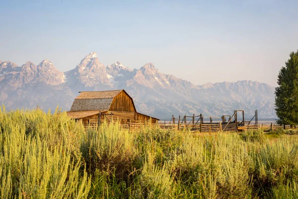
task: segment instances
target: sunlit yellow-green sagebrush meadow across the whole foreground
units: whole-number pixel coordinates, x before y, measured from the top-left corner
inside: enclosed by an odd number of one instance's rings
[[[0,198],[297,199],[295,130],[140,132],[0,110]]]

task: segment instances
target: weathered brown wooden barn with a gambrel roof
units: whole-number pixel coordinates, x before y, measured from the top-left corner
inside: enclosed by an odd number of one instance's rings
[[[137,112],[134,100],[124,90],[79,92],[68,116],[84,126],[118,121],[121,125],[157,122],[159,119]]]

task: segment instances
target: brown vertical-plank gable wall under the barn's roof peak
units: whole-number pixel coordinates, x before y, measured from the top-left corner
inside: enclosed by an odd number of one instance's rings
[[[126,112],[136,111],[133,100],[124,91],[121,91],[116,97],[114,97],[109,110]]]

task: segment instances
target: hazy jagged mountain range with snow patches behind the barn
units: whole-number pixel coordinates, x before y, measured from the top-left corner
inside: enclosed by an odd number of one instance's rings
[[[183,72],[183,69],[181,69]],[[216,79],[216,74],[215,74]],[[22,66],[0,61],[0,103],[6,109],[61,107],[69,110],[79,91],[125,89],[138,111],[162,119],[174,114],[231,115],[244,109],[246,116],[275,118],[275,88],[259,82],[238,81],[194,85],[173,75],[160,73],[152,63],[130,69],[119,61],[104,66],[95,52],[85,56],[67,72],[57,70],[49,60]]]

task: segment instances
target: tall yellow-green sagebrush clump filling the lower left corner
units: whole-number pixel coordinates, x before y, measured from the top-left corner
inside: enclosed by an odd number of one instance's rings
[[[72,158],[72,137],[50,128],[53,117],[69,120],[65,113],[0,111],[1,198],[87,198],[90,178]]]

